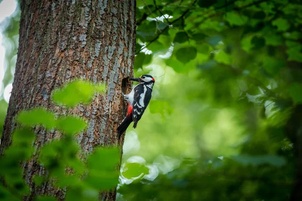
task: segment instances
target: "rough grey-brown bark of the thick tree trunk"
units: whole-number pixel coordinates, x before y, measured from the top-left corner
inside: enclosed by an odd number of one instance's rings
[[[0,155],[11,144],[16,115],[21,110],[43,106],[57,115],[85,118],[88,129],[77,137],[83,153],[95,146],[117,145],[116,128],[125,112],[121,92],[131,84],[123,81],[133,74],[135,49],[135,0],[23,0],[21,1],[19,50],[8,114],[1,139]],[[52,103],[52,91],[72,79],[106,82],[105,94],[96,95],[88,105],[74,109]],[[123,112],[124,111],[124,112]],[[36,129],[37,150],[59,138],[57,131]],[[37,194],[55,195],[64,190],[50,184],[34,186],[33,175],[45,174],[35,157],[24,164],[24,177]],[[103,192],[104,200],[115,200],[116,192]]]

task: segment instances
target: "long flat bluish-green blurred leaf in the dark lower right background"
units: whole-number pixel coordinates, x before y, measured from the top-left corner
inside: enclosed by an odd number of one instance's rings
[[[232,157],[235,161],[242,163],[244,165],[261,165],[261,164],[270,164],[273,166],[283,166],[286,164],[286,161],[281,156],[275,155],[263,155],[263,156],[250,156],[250,155],[238,155]]]

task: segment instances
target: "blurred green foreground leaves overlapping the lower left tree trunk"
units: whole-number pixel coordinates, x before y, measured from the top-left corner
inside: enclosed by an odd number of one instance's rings
[[[76,84],[75,84],[76,83]],[[89,92],[83,92],[87,91]],[[87,102],[91,94],[103,92],[104,84],[91,84],[83,81],[73,81],[63,89],[54,92],[56,102],[73,106]],[[64,91],[62,93],[61,91]],[[60,95],[57,95],[61,93]],[[81,94],[74,98],[70,94]],[[67,96],[67,97],[66,97]],[[29,193],[29,187],[23,179],[22,165],[27,160],[37,158],[47,172],[46,175],[35,175],[36,186],[51,181],[56,187],[65,188],[66,200],[98,200],[99,190],[112,189],[118,184],[119,162],[118,148],[98,148],[87,156],[87,162],[79,158],[80,147],[73,134],[86,128],[86,122],[78,117],[56,117],[52,112],[43,108],[23,111],[17,118],[22,125],[13,133],[13,144],[0,158],[0,176],[5,185],[0,186],[0,200],[21,200]],[[62,138],[46,143],[37,149],[34,145],[35,133],[32,128],[58,129]],[[40,196],[37,200],[55,200],[53,197]]]

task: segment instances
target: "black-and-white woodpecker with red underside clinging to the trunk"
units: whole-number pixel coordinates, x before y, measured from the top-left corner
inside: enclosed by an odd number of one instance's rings
[[[129,94],[123,94],[124,100],[128,102],[128,112],[122,123],[117,128],[118,138],[126,131],[128,126],[133,122],[133,128],[136,128],[143,112],[147,108],[155,79],[151,75],[141,75],[140,77],[130,78],[139,84],[133,87]]]

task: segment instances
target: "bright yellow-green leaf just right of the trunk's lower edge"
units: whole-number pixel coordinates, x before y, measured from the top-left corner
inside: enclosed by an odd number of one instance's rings
[[[148,174],[148,173],[149,173],[149,168],[139,163],[126,163],[122,172],[123,176],[128,179],[135,178],[141,174]]]

